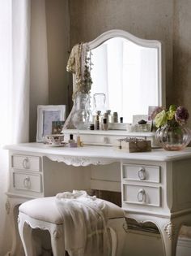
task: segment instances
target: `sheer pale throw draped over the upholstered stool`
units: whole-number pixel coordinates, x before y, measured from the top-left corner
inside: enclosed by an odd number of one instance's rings
[[[86,191],[58,193],[56,205],[64,220],[65,246],[70,256],[108,256],[105,223],[107,205]]]

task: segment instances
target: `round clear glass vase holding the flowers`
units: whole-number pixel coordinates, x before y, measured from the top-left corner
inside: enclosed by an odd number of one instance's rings
[[[167,124],[157,129],[156,139],[164,150],[183,150],[191,141],[191,131],[180,124]]]

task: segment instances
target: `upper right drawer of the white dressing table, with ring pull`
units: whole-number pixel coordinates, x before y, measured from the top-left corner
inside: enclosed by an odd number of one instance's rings
[[[160,167],[136,164],[125,164],[122,168],[123,180],[160,182]]]

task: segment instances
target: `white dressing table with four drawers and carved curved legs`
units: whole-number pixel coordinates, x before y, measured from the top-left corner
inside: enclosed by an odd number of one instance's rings
[[[20,255],[16,206],[34,197],[71,189],[121,191],[126,217],[153,222],[166,256],[176,255],[181,224],[191,225],[191,149],[131,153],[108,146],[8,145],[10,178],[6,211],[13,224],[12,249]]]

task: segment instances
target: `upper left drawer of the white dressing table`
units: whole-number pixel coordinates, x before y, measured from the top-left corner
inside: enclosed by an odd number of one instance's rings
[[[13,154],[11,167],[17,170],[40,171],[40,157]]]

